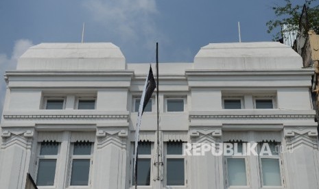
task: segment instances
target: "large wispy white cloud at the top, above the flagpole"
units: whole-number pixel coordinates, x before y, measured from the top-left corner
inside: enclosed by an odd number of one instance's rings
[[[145,47],[151,43],[154,49],[154,40],[163,38],[152,19],[158,15],[155,0],[87,0],[82,5],[123,42],[143,40]]]

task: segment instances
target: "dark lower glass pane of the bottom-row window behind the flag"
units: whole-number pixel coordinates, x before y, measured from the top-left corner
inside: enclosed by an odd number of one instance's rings
[[[138,186],[150,186],[151,180],[151,159],[138,159],[137,160],[137,185]],[[135,179],[133,176],[133,185],[135,185]]]

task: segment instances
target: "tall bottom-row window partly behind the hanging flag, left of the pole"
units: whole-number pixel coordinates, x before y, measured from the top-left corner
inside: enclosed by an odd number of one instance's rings
[[[139,142],[137,147],[137,185],[150,186],[151,181],[151,142]],[[134,152],[133,152],[134,154]],[[134,159],[133,159],[134,162]],[[132,169],[134,173],[134,169]],[[132,175],[132,185],[135,185],[134,174]]]

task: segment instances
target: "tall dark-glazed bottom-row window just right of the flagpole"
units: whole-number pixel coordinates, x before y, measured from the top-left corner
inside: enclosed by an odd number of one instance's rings
[[[166,185],[185,185],[185,159],[182,156],[182,142],[166,143]]]

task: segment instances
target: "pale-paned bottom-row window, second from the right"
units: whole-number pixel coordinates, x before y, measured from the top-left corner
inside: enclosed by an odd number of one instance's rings
[[[243,155],[233,155],[226,157],[226,183],[228,186],[247,186],[247,166],[246,166],[246,154],[243,151],[243,142],[231,142],[234,146],[237,145],[236,153],[242,153]]]

